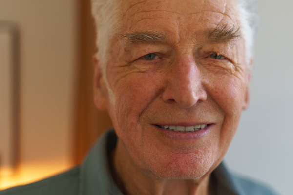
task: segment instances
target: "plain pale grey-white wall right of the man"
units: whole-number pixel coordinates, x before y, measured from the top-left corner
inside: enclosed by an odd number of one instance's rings
[[[226,155],[230,168],[264,181],[281,195],[293,182],[293,1],[257,0],[250,108]]]

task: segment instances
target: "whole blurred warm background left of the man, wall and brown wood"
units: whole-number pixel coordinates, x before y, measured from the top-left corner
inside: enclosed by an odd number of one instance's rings
[[[18,32],[12,45],[17,59],[9,64],[15,68],[10,84],[17,86],[16,100],[8,102],[13,111],[3,103],[13,90],[0,89],[0,189],[75,166],[111,126],[92,100],[95,33],[89,10],[89,0],[0,0],[0,24],[10,22],[13,29],[6,31]],[[3,45],[0,51],[3,58]],[[0,78],[9,78],[3,62]]]

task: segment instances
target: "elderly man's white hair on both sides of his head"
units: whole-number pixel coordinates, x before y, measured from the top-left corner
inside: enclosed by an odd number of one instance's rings
[[[119,0],[91,0],[92,15],[96,24],[96,46],[98,49],[102,70],[105,72],[105,66],[108,60],[109,44],[113,36],[118,32],[121,25],[120,3]],[[258,27],[258,15],[256,12],[255,0],[236,0],[238,2],[242,34],[246,42],[246,63],[253,53],[253,43]]]

